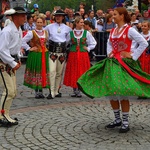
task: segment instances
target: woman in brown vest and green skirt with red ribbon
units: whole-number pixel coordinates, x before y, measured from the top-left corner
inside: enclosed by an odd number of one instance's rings
[[[24,85],[35,90],[37,99],[44,98],[43,88],[50,88],[49,52],[46,48],[48,34],[43,30],[43,24],[44,18],[37,17],[36,29],[28,31],[22,43],[22,48],[30,51],[26,62]]]

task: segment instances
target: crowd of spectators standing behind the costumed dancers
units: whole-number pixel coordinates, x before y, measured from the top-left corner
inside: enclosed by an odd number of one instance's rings
[[[110,32],[112,28],[116,25],[113,21],[113,9],[108,9],[107,11],[103,11],[102,9],[98,9],[97,11],[88,10],[86,11],[85,3],[81,2],[79,8],[75,11],[73,8],[65,7],[64,9],[61,6],[55,6],[53,10],[47,10],[45,13],[39,12],[39,6],[37,4],[33,5],[33,9],[27,15],[27,20],[23,29],[23,35],[25,35],[29,30],[35,29],[35,21],[38,16],[42,16],[45,19],[43,28],[48,24],[55,22],[55,12],[56,10],[63,10],[66,13],[65,16],[65,24],[74,28],[74,20],[75,17],[81,16],[85,21],[85,28],[89,30],[93,35],[95,32]],[[143,21],[150,22],[150,11],[144,10],[140,13],[140,11],[136,8],[134,12],[129,12],[131,16],[130,25],[135,28],[137,31],[142,32],[141,26]],[[11,19],[9,16],[4,17],[2,21],[1,29],[4,28],[8,23],[10,23]]]

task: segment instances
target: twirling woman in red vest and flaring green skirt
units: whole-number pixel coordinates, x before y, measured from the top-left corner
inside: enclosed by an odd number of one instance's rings
[[[150,97],[150,75],[141,70],[137,61],[148,43],[128,25],[130,16],[125,8],[115,8],[113,19],[117,26],[110,32],[108,57],[84,73],[78,80],[78,86],[89,97],[106,96],[115,115],[115,120],[106,128],[121,126],[119,132],[126,133],[130,130],[130,96]],[[138,44],[137,47],[133,46],[133,41]]]

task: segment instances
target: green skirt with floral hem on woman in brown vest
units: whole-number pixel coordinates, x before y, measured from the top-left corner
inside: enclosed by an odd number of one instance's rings
[[[49,52],[45,52],[46,86],[42,86],[42,53],[30,52],[26,62],[24,85],[32,89],[50,88]]]

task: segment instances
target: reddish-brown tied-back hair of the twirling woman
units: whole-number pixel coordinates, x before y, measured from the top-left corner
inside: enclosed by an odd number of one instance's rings
[[[130,23],[131,17],[129,15],[129,13],[127,12],[126,8],[124,8],[124,7],[117,7],[114,10],[116,10],[119,13],[119,15],[124,15],[124,21],[126,23]]]

